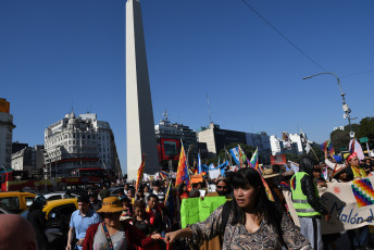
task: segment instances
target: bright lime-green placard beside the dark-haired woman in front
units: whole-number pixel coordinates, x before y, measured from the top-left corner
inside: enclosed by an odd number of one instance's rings
[[[180,224],[185,228],[188,224],[203,222],[214,210],[226,202],[223,197],[205,197],[183,199],[180,204]]]

